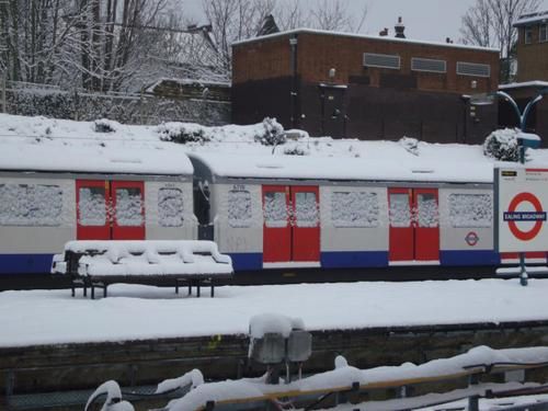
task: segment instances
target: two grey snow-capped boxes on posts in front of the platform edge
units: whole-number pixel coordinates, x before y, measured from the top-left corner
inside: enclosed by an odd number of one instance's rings
[[[263,313],[249,323],[248,358],[267,366],[266,383],[279,384],[279,370],[285,364],[285,383],[290,383],[290,364],[297,364],[301,377],[302,363],[312,353],[312,335],[305,331],[299,318]]]

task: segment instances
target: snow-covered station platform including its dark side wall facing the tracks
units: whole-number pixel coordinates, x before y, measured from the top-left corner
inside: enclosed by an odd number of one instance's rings
[[[248,355],[250,319],[265,312],[299,317],[312,333],[305,373],[332,369],[338,354],[368,368],[478,345],[544,345],[548,330],[545,279],[222,286],[215,298],[140,285],[110,290],[96,300],[67,290],[0,293],[0,369],[13,374],[15,390],[139,384],[192,368],[233,379]]]

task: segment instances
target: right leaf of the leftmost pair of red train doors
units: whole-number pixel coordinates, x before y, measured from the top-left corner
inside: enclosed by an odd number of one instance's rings
[[[144,193],[142,181],[111,183],[113,240],[145,240]]]

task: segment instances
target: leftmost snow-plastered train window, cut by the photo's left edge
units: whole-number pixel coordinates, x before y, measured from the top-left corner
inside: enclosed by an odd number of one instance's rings
[[[0,224],[59,226],[62,191],[57,185],[0,184]]]

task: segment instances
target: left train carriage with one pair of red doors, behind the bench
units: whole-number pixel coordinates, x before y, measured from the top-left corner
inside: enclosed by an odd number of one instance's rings
[[[48,273],[70,240],[195,239],[180,147],[2,141],[0,274]]]

